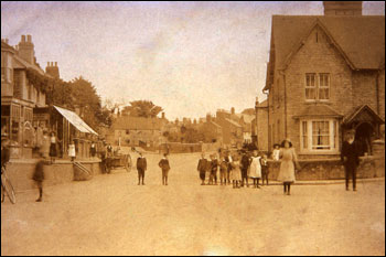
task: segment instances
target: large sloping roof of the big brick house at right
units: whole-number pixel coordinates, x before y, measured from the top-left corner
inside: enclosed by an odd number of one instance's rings
[[[276,65],[286,60],[315,24],[336,42],[356,69],[377,69],[385,60],[385,17],[274,15]],[[271,61],[271,60],[270,60]]]

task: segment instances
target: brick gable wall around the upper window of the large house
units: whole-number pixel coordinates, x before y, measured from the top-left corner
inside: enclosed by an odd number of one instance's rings
[[[318,40],[317,40],[318,34]],[[353,106],[352,72],[341,53],[329,43],[325,33],[317,26],[296,53],[283,73],[287,92],[287,137],[300,149],[300,124],[294,119],[308,105],[305,101],[305,74],[330,74],[330,100],[326,103],[341,115]],[[283,107],[280,107],[283,108]]]

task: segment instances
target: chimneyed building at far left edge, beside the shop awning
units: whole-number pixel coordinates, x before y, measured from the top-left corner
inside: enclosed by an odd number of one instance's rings
[[[34,144],[33,110],[44,107],[45,94],[28,79],[28,69],[46,76],[36,63],[31,35],[13,47],[1,40],[1,132],[12,140],[12,158],[30,158]]]

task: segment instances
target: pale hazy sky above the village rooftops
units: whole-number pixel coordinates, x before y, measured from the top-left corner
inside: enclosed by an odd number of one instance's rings
[[[363,13],[384,15],[384,2]],[[236,111],[266,98],[272,14],[322,15],[322,2],[7,2],[1,39],[31,34],[37,63],[83,76],[105,99],[147,99],[169,119]]]

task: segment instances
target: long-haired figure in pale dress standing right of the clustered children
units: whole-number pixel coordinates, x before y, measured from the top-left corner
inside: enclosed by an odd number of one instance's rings
[[[280,157],[281,163],[278,181],[283,183],[285,194],[290,195],[291,184],[294,182],[294,165],[298,165],[298,158],[289,139],[281,142]]]

